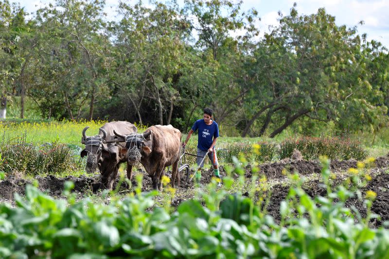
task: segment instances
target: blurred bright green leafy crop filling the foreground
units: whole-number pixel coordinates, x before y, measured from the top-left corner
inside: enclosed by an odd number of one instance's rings
[[[238,173],[245,161],[235,160]],[[16,207],[0,204],[0,256],[387,258],[389,231],[368,226],[374,193],[364,198],[366,219],[354,217],[345,202],[358,192],[358,175],[352,188],[332,188],[329,161],[322,163],[327,194],[310,197],[302,179],[289,175],[294,184],[281,203],[280,224],[251,198],[215,190],[214,181],[208,192],[198,190],[200,199],[182,202],[172,214],[170,204],[153,207],[157,193],[141,193],[141,186],[135,196],[112,196],[108,205],[76,202],[72,183],[65,184],[67,200],[27,186],[25,199],[16,194]]]

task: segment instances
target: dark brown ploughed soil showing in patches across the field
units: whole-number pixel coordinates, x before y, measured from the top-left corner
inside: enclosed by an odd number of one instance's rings
[[[377,193],[376,200],[372,205],[372,212],[381,216],[381,221],[374,220],[371,222],[373,226],[380,226],[383,221],[389,220],[389,154],[386,156],[378,157],[375,160],[375,165],[369,169],[371,175],[371,181],[368,182],[366,186],[362,188],[362,191],[373,190]],[[287,168],[290,172],[298,172],[300,175],[307,176],[310,179],[304,183],[304,190],[310,195],[325,195],[326,190],[320,185],[318,177],[314,177],[315,174],[321,172],[321,167],[319,161],[305,161],[305,160],[292,160],[284,159],[276,163],[262,164],[260,166],[260,173],[265,174],[267,181],[274,182],[273,185],[270,185],[272,195],[270,197],[270,203],[267,207],[267,211],[272,215],[276,221],[280,219],[279,207],[281,201],[286,197],[289,187],[285,184],[286,176],[282,173],[283,169]],[[346,176],[345,172],[349,168],[356,168],[355,160],[346,160],[346,161],[337,161],[334,160],[331,162],[331,172],[336,174],[335,182],[341,182]],[[142,180],[142,191],[148,191],[152,189],[152,180],[151,178],[140,170],[138,173],[143,173]],[[221,174],[225,175],[223,167],[221,167]],[[213,175],[213,170],[202,173],[202,183],[207,184],[211,181]],[[251,169],[248,166],[245,173],[246,179],[249,181],[252,177]],[[50,195],[55,197],[62,196],[62,190],[65,181],[74,182],[74,192],[79,198],[85,196],[85,194],[97,193],[98,190],[101,190],[99,184],[99,175],[93,177],[81,176],[81,177],[65,177],[57,178],[53,175],[46,177],[36,177],[39,183],[39,189],[47,191]],[[119,178],[114,184],[114,188],[117,185]],[[24,194],[26,184],[29,184],[29,181],[25,179],[16,179],[16,178],[6,178],[0,181],[0,202],[9,202],[13,203],[14,193],[17,192],[21,195]],[[132,185],[136,186],[137,182],[135,177],[132,179]],[[120,187],[124,193],[129,190],[129,186],[126,182]],[[193,197],[194,186],[193,183],[186,183],[181,179],[181,185],[176,190],[176,196],[172,201],[172,205],[177,207],[179,203],[183,200]],[[347,201],[347,206],[354,206],[358,208],[361,215],[366,215],[366,207],[363,204],[363,201],[358,200],[357,198],[352,198]]]

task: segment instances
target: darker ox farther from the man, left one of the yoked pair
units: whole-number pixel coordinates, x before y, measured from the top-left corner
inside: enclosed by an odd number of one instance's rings
[[[85,138],[85,149],[81,151],[81,157],[88,155],[85,170],[94,173],[99,168],[101,183],[109,190],[112,190],[113,182],[118,174],[119,165],[127,161],[127,157],[121,150],[124,142],[106,143],[106,136],[114,136],[114,131],[120,134],[136,133],[138,131],[134,124],[127,121],[112,121],[104,124],[99,130],[99,135],[86,136],[85,127],[82,136]],[[131,180],[132,165],[127,163],[127,177]]]

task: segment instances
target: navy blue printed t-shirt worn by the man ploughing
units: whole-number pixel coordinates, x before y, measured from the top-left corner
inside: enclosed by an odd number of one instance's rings
[[[200,119],[192,126],[193,131],[196,131],[197,129],[197,147],[201,150],[208,150],[212,145],[213,137],[219,137],[219,126],[217,126],[216,121],[212,121],[211,125],[207,125],[205,124],[204,119]]]

